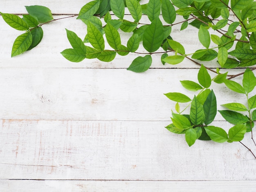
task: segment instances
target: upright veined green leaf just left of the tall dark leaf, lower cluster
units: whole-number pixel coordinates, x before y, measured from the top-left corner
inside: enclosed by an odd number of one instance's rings
[[[205,120],[203,106],[196,96],[194,96],[191,102],[190,119],[194,125],[200,125]]]

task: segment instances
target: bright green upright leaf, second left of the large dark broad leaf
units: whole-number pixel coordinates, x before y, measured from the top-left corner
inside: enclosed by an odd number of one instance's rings
[[[121,38],[117,29],[115,29],[115,27],[113,27],[112,25],[107,24],[106,27],[104,27],[104,31],[110,47],[112,47],[115,50],[118,50],[121,46]]]

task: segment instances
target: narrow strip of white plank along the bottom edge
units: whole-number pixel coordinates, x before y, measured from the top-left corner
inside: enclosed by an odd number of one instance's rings
[[[255,181],[16,181],[0,180],[2,192],[254,192]]]

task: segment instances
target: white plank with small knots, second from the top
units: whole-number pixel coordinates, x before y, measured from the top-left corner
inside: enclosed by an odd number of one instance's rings
[[[180,80],[197,81],[197,73],[198,69],[149,69],[141,74],[125,69],[0,69],[0,118],[169,121],[175,102],[164,93],[193,98],[195,93],[186,91]],[[246,105],[243,94],[225,85],[213,83],[212,89],[218,109],[225,103]],[[184,109],[187,104],[180,105]],[[223,120],[219,113],[216,120]]]

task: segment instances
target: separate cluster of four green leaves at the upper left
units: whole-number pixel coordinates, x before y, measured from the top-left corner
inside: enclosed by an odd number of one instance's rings
[[[43,38],[43,29],[40,23],[53,20],[52,12],[47,7],[38,5],[25,7],[29,14],[22,15],[22,18],[14,14],[0,12],[8,25],[19,31],[25,31],[14,41],[11,51],[12,57],[36,47]]]

